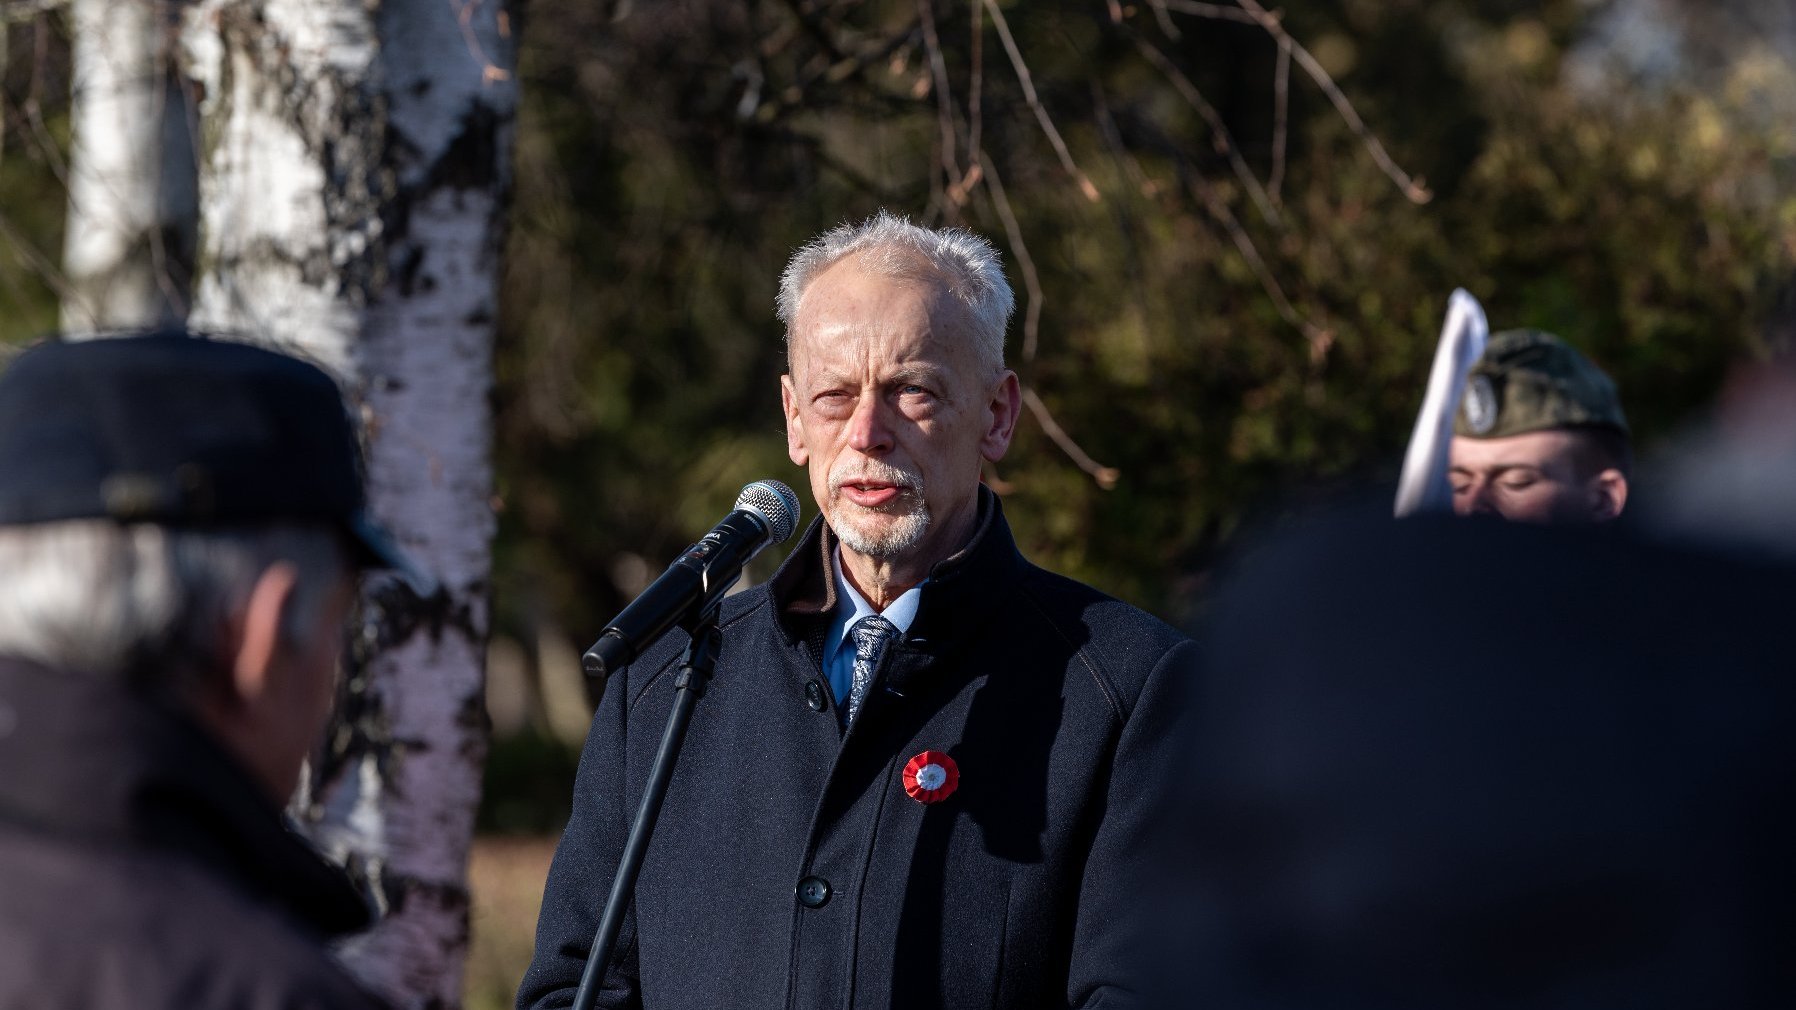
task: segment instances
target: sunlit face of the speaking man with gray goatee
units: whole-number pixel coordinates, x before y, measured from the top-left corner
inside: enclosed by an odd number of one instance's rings
[[[787,449],[842,548],[929,566],[972,536],[982,460],[1017,421],[1017,376],[981,361],[939,284],[862,271],[812,280],[779,381]]]

